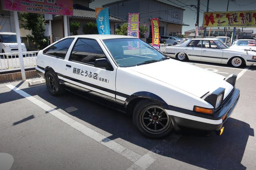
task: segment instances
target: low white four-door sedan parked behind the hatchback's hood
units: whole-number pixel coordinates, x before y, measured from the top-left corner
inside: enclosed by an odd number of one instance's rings
[[[181,45],[168,46],[164,54],[180,61],[231,64],[234,67],[256,64],[256,52],[229,48],[216,38],[191,39]]]

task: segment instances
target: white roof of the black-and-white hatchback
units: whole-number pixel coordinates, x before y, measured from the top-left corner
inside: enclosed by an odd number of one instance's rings
[[[90,34],[90,35],[73,35],[68,37],[94,38],[94,39],[119,39],[119,38],[137,38],[127,35],[106,35],[106,34]],[[64,37],[64,38],[68,38]]]

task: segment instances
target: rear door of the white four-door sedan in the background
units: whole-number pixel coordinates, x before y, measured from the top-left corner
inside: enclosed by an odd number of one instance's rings
[[[200,61],[202,53],[202,41],[192,40],[184,48],[184,52],[188,55],[189,60]]]

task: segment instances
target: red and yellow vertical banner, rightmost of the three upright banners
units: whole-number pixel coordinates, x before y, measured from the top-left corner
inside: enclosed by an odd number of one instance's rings
[[[158,18],[151,19],[151,27],[152,27],[152,46],[155,49],[160,49]]]

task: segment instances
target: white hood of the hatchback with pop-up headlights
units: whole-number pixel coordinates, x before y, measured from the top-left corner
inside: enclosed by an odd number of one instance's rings
[[[226,98],[233,89],[231,84],[223,80],[224,76],[174,59],[128,67],[128,69],[175,86],[199,98],[219,87],[226,89],[224,94]]]

